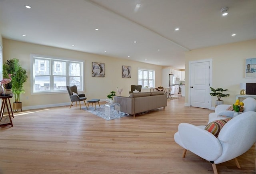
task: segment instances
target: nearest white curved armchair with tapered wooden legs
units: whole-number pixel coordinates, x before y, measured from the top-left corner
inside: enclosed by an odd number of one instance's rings
[[[220,130],[218,138],[204,128],[180,123],[174,140],[184,148],[183,157],[190,150],[211,162],[214,174],[218,173],[215,164],[232,159],[240,168],[236,157],[249,150],[256,141],[256,112],[248,111],[228,121]]]

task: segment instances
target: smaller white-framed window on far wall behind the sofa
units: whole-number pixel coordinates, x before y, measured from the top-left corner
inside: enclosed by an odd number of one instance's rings
[[[142,88],[154,87],[155,71],[147,69],[138,69],[138,85]]]

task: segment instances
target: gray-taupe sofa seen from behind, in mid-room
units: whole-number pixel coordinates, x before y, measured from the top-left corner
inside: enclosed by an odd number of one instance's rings
[[[115,103],[120,104],[121,112],[135,115],[145,111],[167,106],[167,96],[163,91],[130,93],[130,97],[115,96]]]

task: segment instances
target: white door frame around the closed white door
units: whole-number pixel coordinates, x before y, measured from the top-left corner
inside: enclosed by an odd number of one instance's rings
[[[209,83],[210,83],[210,87],[212,87],[212,59],[202,59],[202,60],[196,60],[196,61],[189,61],[188,62],[188,106],[190,106],[191,103],[191,65],[192,63],[202,63],[202,62],[209,62],[210,63],[210,71],[209,71]],[[208,109],[213,109],[212,108],[212,96],[209,93],[209,103],[208,103]]]

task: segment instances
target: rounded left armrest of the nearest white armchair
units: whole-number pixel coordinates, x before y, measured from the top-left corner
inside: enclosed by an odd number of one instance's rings
[[[184,146],[198,156],[214,161],[222,154],[219,140],[202,127],[180,123],[178,133]]]

